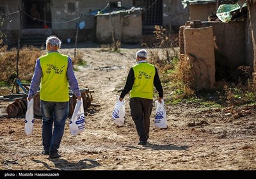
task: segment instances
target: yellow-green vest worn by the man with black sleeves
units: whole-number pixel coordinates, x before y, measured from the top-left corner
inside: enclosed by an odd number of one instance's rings
[[[153,99],[154,77],[156,69],[150,63],[138,63],[132,66],[134,71],[134,84],[130,97]]]

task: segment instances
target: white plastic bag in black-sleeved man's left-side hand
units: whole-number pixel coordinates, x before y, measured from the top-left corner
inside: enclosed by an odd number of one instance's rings
[[[112,118],[118,126],[124,125],[125,121],[125,100],[122,102],[119,100],[119,96],[117,95],[117,100],[115,104],[115,108],[112,113]]]

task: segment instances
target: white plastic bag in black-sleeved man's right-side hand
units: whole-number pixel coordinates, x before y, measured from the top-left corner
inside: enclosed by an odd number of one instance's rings
[[[156,116],[154,120],[154,128],[167,128],[166,110],[164,108],[164,100],[155,101]]]

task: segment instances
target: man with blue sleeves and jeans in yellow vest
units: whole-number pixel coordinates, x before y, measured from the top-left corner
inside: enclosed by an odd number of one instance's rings
[[[40,105],[43,119],[42,154],[59,158],[58,153],[69,111],[68,84],[78,100],[79,85],[74,74],[72,59],[60,54],[61,41],[56,36],[46,39],[45,56],[36,60],[35,72],[30,84],[28,100],[35,97],[40,86]],[[54,126],[54,128],[53,128]],[[53,130],[52,130],[53,128]]]

